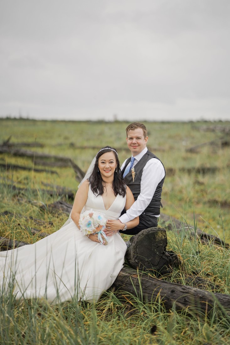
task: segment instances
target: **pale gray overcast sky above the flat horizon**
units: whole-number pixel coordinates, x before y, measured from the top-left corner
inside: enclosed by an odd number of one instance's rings
[[[0,0],[0,116],[230,120],[229,0]]]

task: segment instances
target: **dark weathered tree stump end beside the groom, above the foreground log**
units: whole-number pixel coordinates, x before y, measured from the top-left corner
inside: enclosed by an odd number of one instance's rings
[[[178,256],[172,251],[166,251],[167,236],[164,228],[142,230],[130,238],[130,243],[125,257],[133,268],[166,274],[172,272],[173,267],[179,266]]]

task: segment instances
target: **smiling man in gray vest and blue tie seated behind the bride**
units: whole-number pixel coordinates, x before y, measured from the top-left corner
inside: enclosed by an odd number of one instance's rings
[[[120,232],[136,235],[143,229],[157,226],[160,206],[162,207],[161,192],[165,169],[160,159],[146,147],[148,137],[145,125],[133,122],[126,128],[126,135],[132,157],[124,161],[121,171],[126,185],[133,193],[135,202],[125,214],[119,217],[119,220],[125,224],[139,216],[140,221],[135,228],[120,230]],[[132,172],[131,169],[134,171]]]

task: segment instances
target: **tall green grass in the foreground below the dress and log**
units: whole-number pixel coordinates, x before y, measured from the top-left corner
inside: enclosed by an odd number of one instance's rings
[[[1,298],[1,344],[229,344],[230,316],[214,305],[194,315],[106,292],[96,304]]]

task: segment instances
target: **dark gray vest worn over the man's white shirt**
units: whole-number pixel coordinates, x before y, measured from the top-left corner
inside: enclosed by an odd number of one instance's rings
[[[125,176],[124,181],[125,184],[130,187],[134,199],[136,201],[137,197],[141,193],[141,177],[143,173],[143,168],[145,167],[146,163],[151,159],[151,158],[157,158],[152,152],[148,151],[144,154],[144,156],[137,162],[137,164],[134,167],[135,170],[135,178],[133,181],[132,177],[132,172],[128,172],[128,174]],[[122,169],[122,175],[124,174],[125,168],[131,161],[131,157],[126,160],[125,166]],[[162,164],[163,165],[163,164]],[[164,166],[163,166],[164,167]],[[164,169],[165,172],[165,169]],[[153,176],[154,179],[154,176]],[[162,207],[161,204],[161,192],[162,192],[162,186],[164,183],[165,175],[162,178],[162,180],[159,182],[159,184],[156,187],[155,193],[153,195],[152,200],[150,201],[149,205],[146,207],[144,210],[143,214],[146,214],[147,216],[155,216],[160,214],[160,206]]]

